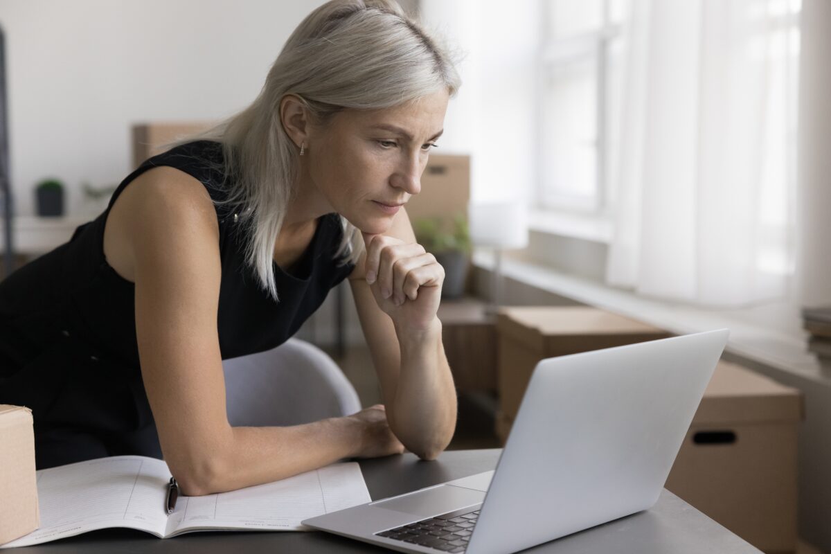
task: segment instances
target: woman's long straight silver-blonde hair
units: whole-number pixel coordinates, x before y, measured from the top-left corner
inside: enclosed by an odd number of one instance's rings
[[[278,300],[273,250],[300,163],[280,118],[283,98],[297,96],[324,123],[339,110],[389,108],[442,89],[454,96],[459,86],[448,52],[396,2],[332,0],[297,26],[248,108],[189,139],[222,144],[224,203],[243,216],[246,262],[270,296]],[[360,233],[341,223],[337,257],[356,262]]]

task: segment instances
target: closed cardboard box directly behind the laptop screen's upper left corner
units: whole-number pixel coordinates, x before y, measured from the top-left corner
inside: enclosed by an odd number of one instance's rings
[[[499,310],[496,326],[499,411],[508,427],[539,360],[671,336],[641,321],[588,306],[506,307]]]

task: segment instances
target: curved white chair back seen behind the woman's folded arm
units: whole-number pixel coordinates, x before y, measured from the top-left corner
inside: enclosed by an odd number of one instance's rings
[[[298,425],[361,410],[355,388],[326,352],[292,338],[223,361],[232,425]]]

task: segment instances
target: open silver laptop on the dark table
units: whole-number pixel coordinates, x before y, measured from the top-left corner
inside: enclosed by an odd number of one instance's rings
[[[303,523],[400,552],[517,552],[652,507],[729,331],[542,360],[494,471]]]

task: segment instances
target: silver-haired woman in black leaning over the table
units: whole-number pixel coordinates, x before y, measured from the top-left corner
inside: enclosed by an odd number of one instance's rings
[[[339,458],[435,458],[456,409],[444,272],[403,204],[458,86],[395,2],[328,2],[252,105],[146,161],[70,243],[2,282],[0,403],[32,408],[38,468],[164,454],[199,495]],[[347,277],[386,410],[230,427],[222,360],[286,341]]]

